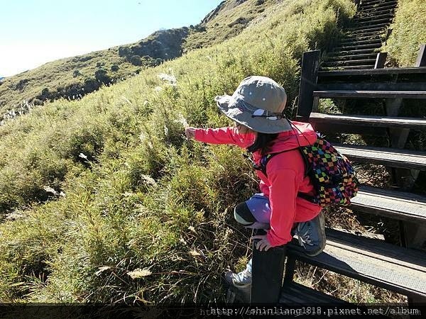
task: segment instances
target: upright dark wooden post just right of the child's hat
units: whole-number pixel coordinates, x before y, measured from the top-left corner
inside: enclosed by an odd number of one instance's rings
[[[302,57],[302,72],[300,74],[299,99],[297,106],[297,115],[309,118],[312,110],[313,96],[317,85],[317,72],[320,64],[320,50],[305,52]]]

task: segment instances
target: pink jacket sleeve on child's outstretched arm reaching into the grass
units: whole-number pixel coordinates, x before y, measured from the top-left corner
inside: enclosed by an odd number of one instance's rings
[[[249,147],[256,140],[253,133],[240,134],[236,128],[196,128],[195,140],[209,144],[231,144]]]

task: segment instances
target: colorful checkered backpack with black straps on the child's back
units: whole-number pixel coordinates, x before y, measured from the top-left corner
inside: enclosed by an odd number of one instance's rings
[[[313,145],[297,147],[307,167],[306,174],[315,187],[315,196],[299,193],[297,196],[308,199],[321,206],[331,204],[349,205],[351,198],[356,196],[359,181],[349,159],[337,152],[327,140],[318,135]],[[295,150],[295,149],[293,149]],[[288,152],[285,150],[284,152]],[[253,163],[266,175],[266,164],[274,156],[271,153],[261,158],[260,166]]]

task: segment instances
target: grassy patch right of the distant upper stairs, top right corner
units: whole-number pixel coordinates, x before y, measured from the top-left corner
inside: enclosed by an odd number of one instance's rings
[[[420,45],[426,43],[426,4],[424,0],[399,0],[392,33],[382,52],[388,52],[391,65],[413,67]]]

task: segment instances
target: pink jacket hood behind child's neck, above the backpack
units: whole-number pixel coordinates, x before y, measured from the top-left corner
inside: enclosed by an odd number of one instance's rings
[[[292,121],[291,123],[293,130],[278,134],[278,138],[276,138],[273,143],[271,153],[283,152],[300,146],[312,145],[315,140],[317,140],[317,133],[310,123],[295,121]]]

